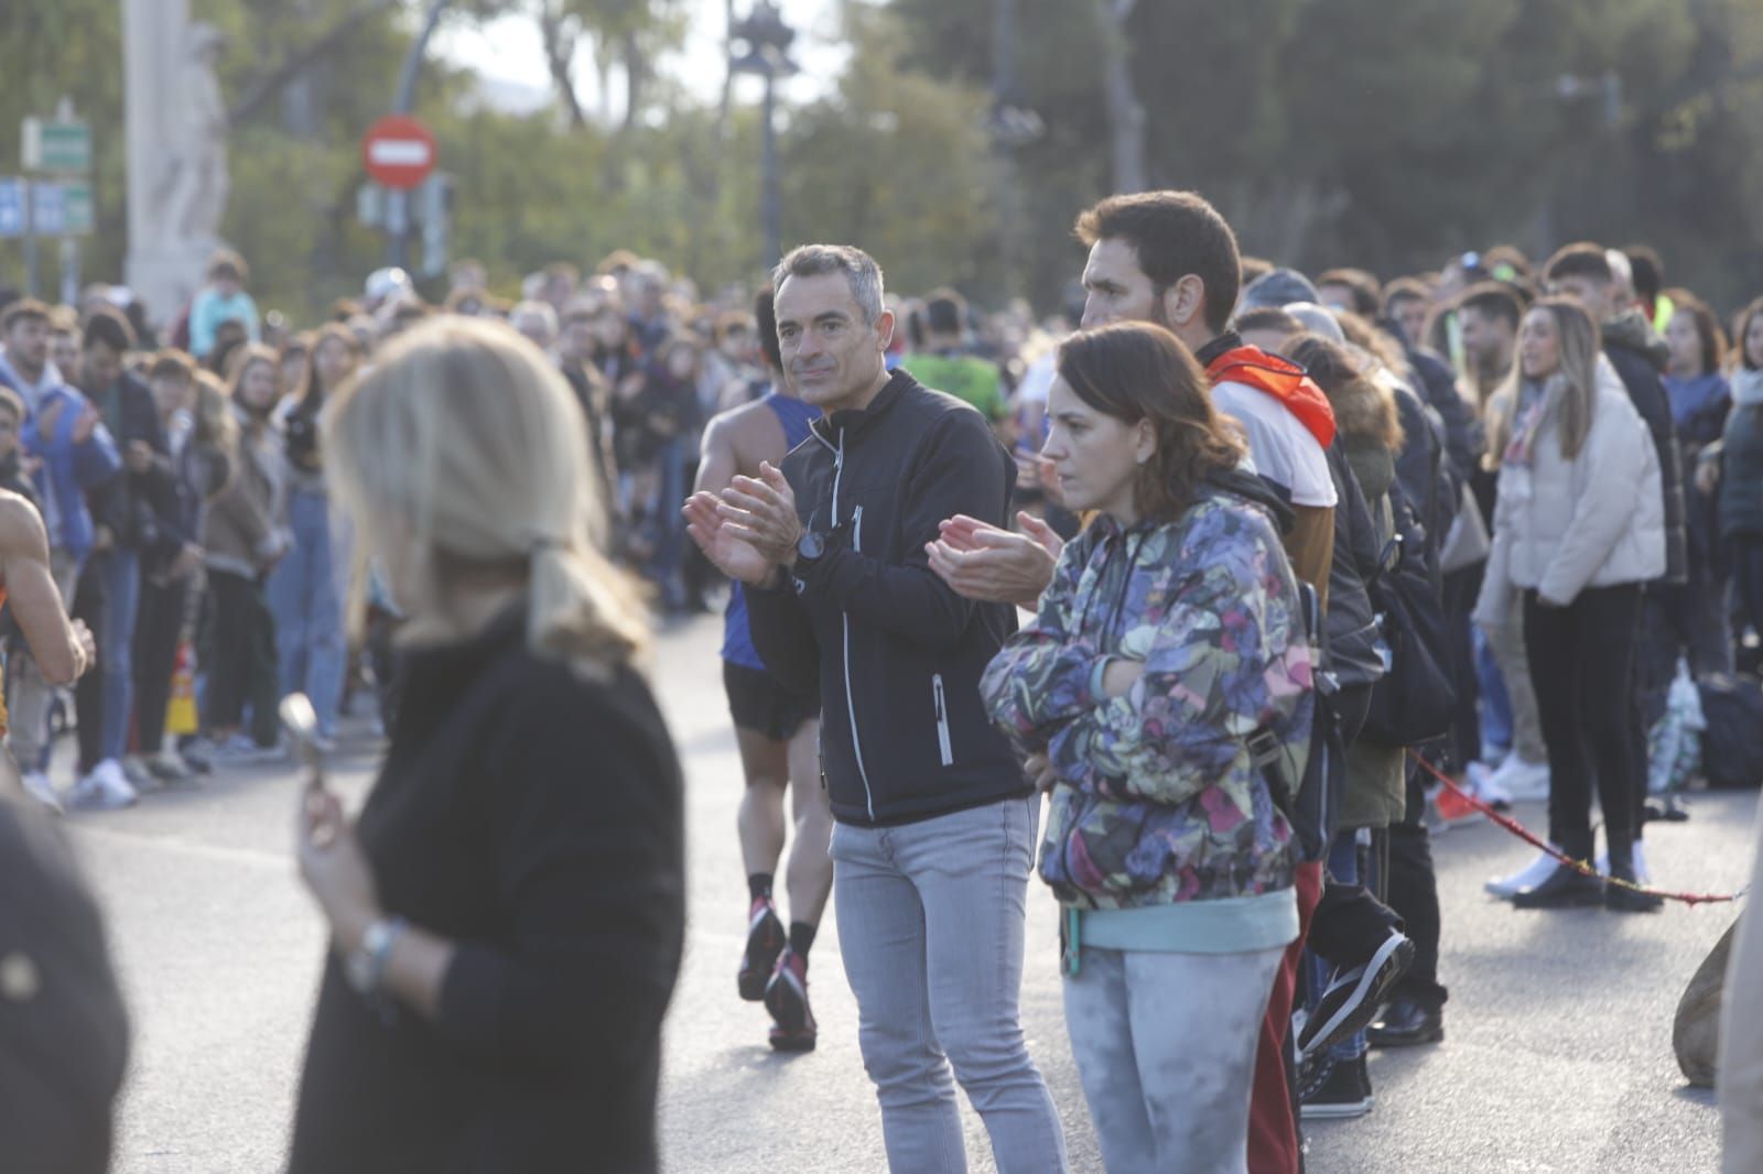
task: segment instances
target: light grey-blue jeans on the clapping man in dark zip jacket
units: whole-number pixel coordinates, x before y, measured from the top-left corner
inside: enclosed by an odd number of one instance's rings
[[[1017,1017],[1037,804],[832,830],[839,950],[896,1174],[968,1169],[954,1081],[1000,1174],[1065,1170],[1065,1133]]]

